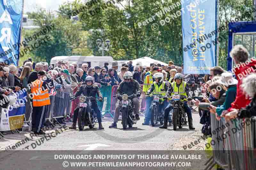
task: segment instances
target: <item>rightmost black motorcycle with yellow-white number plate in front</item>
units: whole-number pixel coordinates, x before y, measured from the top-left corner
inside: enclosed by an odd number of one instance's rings
[[[184,95],[173,94],[172,97],[169,96],[168,98],[171,98],[170,103],[171,106],[173,107],[173,130],[177,130],[177,125],[181,129],[182,125],[185,124],[186,117],[188,117],[184,110],[184,101],[181,100],[187,99],[187,97]]]

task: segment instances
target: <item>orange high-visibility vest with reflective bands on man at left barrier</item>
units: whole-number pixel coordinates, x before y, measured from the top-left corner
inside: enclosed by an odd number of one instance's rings
[[[32,83],[31,92],[33,94],[34,107],[46,106],[51,104],[48,89],[43,91],[42,86],[43,86],[42,80],[37,79]]]

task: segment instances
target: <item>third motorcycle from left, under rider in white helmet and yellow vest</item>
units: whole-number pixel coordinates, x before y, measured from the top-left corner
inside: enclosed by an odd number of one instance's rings
[[[147,96],[146,96],[147,97]],[[164,124],[164,112],[158,110],[159,100],[163,98],[161,94],[153,94],[153,100],[149,109],[151,109],[151,125],[155,126],[157,122],[160,122],[161,125]]]

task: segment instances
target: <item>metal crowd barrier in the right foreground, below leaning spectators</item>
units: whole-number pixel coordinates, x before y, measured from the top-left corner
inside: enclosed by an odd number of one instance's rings
[[[218,164],[228,170],[256,169],[256,117],[218,121],[211,114],[212,153],[205,170]],[[206,163],[206,164],[207,164]]]

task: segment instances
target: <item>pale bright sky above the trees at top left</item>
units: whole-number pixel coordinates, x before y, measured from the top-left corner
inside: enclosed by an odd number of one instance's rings
[[[60,4],[68,1],[73,2],[74,0],[24,0],[24,13],[35,11],[36,6],[46,10],[57,11]]]

